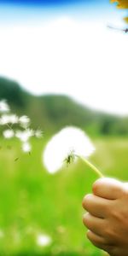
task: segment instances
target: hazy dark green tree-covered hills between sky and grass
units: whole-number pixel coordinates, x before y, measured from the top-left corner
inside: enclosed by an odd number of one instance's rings
[[[0,78],[0,100],[6,99],[13,113],[28,115],[32,127],[44,134],[76,125],[91,136],[128,135],[128,117],[120,117],[86,108],[64,95],[33,96],[9,79]]]

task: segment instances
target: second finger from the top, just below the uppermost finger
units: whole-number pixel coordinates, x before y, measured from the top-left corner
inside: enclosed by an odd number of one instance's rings
[[[83,207],[93,216],[105,218],[108,216],[108,204],[110,203],[111,201],[90,194],[84,196]]]

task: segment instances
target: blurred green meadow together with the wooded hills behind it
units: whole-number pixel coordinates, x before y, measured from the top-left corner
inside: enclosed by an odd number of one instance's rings
[[[127,119],[93,113],[67,96],[31,96],[9,79],[0,79],[0,97],[15,113],[31,116],[32,126],[45,127],[44,137],[32,138],[31,154],[21,151],[16,138],[0,139],[0,255],[102,256],[82,223],[82,200],[97,176],[80,160],[51,175],[43,152],[63,126],[83,126],[96,146],[90,161],[105,176],[127,181]]]

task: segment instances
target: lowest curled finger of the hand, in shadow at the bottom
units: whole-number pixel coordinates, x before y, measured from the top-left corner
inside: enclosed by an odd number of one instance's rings
[[[108,253],[110,253],[113,250],[113,245],[109,245],[106,241],[103,242],[101,237],[96,236],[93,232],[90,230],[87,232],[88,239],[92,242],[92,244]]]

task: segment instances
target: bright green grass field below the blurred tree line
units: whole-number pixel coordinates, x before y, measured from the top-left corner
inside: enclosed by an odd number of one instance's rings
[[[15,141],[0,143],[0,255],[101,256],[82,224],[82,199],[96,175],[80,161],[50,175],[42,164],[45,143],[33,140],[31,155]],[[128,180],[128,139],[102,137],[94,143],[91,162],[105,176]],[[51,237],[49,246],[38,246],[39,234]]]

